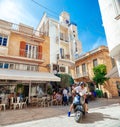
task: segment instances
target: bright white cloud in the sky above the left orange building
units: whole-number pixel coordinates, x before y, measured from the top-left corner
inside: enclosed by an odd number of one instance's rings
[[[26,10],[24,2],[20,0],[1,0],[0,19],[19,24],[24,23],[36,27],[38,21]]]

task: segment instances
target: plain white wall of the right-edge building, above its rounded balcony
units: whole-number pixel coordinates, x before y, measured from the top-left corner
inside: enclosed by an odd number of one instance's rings
[[[120,20],[115,19],[114,0],[99,0],[99,5],[108,47],[111,55],[114,55],[116,54],[114,48],[120,45]]]

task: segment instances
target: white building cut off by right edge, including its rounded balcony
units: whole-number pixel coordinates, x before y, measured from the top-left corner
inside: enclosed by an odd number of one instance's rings
[[[99,0],[99,6],[110,55],[116,60],[120,77],[120,0]]]

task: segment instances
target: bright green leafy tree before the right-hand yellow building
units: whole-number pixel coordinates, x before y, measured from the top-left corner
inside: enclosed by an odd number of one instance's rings
[[[93,72],[94,72],[93,81],[96,83],[97,87],[98,87],[98,84],[103,85],[105,81],[109,79],[105,77],[105,75],[107,74],[107,71],[106,71],[106,65],[104,64],[100,64],[94,67]]]

